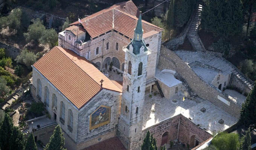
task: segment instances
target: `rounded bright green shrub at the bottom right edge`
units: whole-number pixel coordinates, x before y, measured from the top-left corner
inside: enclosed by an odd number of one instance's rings
[[[221,132],[212,139],[212,144],[218,150],[237,150],[239,147],[239,135]]]

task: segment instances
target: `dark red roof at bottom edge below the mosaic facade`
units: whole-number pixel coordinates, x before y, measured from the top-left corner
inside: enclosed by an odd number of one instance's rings
[[[105,141],[91,145],[83,150],[126,150],[121,141],[117,138],[109,138]]]

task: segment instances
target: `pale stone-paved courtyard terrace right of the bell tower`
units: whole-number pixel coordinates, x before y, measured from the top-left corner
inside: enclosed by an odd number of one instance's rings
[[[177,102],[172,102],[173,99],[176,99]],[[156,96],[152,95],[152,98],[146,96],[142,128],[153,126],[178,114],[191,118],[195,124],[200,124],[200,127],[205,128],[209,133],[213,133],[214,130],[225,130],[238,121],[206,100],[186,98],[182,101],[182,99],[183,96],[174,96],[171,99],[161,98],[159,93]],[[200,111],[203,107],[206,108],[204,113]],[[152,113],[151,110],[155,110],[155,113]],[[224,120],[223,124],[218,123],[221,119]]]

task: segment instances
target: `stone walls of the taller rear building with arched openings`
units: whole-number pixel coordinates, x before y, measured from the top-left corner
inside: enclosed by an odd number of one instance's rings
[[[69,36],[71,37],[70,40],[68,39]],[[148,55],[147,80],[151,80],[155,75],[155,69],[152,68],[156,68],[158,63],[161,48],[161,37],[162,32],[144,39],[145,44],[149,44],[149,49],[151,50],[151,54]],[[87,37],[85,37],[85,39],[87,39]],[[63,48],[73,50],[76,54],[87,58],[90,62],[100,63],[100,70],[108,69],[110,63],[105,65],[106,61],[104,61],[107,57],[110,57],[111,60],[113,57],[116,57],[119,61],[119,68],[116,68],[114,65],[113,68],[118,69],[119,72],[123,72],[122,65],[125,61],[125,52],[122,51],[122,47],[128,45],[130,41],[131,38],[123,35],[122,33],[119,33],[116,30],[110,30],[97,38],[90,38],[90,40],[79,44],[76,42],[76,36],[73,33],[62,31],[59,33],[58,45]],[[118,49],[116,49],[116,43],[118,43]],[[99,48],[98,54],[96,54],[97,48]]]

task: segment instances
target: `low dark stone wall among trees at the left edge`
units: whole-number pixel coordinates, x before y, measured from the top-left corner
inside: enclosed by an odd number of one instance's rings
[[[15,59],[17,55],[20,54],[21,49],[14,47],[12,45],[8,45],[6,43],[0,42],[0,48],[5,48],[5,54],[7,57],[11,57],[12,59]]]

